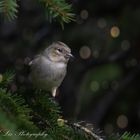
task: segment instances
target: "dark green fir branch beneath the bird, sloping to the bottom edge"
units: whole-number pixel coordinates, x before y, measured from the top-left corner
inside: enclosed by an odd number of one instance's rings
[[[84,131],[76,131],[61,118],[59,105],[48,93],[36,90],[34,97],[30,102],[34,111],[34,123],[53,140],[88,140]]]

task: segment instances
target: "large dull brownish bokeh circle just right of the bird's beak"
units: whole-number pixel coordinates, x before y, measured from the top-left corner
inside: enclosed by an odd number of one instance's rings
[[[88,59],[91,56],[91,49],[88,46],[83,46],[79,53],[82,59]]]

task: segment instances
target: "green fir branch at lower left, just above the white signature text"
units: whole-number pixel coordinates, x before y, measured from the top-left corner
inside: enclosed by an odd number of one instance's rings
[[[31,110],[23,104],[23,99],[17,95],[12,96],[6,89],[0,89],[0,109],[17,124],[18,128],[28,131],[38,130],[31,122]]]

